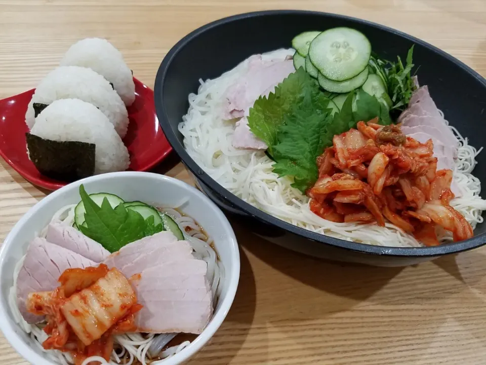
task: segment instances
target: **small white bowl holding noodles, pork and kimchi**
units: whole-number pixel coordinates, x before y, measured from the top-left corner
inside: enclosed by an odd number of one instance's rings
[[[203,193],[184,182],[148,172],[114,172],[88,177],[69,184],[35,204],[5,239],[0,249],[0,330],[10,344],[27,361],[35,365],[53,365],[43,352],[33,345],[30,337],[15,322],[9,309],[9,290],[13,271],[29,242],[47,226],[53,214],[66,204],[79,202],[79,186],[88,193],[106,192],[126,201],[140,200],[154,205],[178,206],[203,227],[214,239],[214,245],[225,269],[225,279],[213,318],[189,346],[163,361],[176,365],[187,361],[214,335],[233,303],[239,280],[239,251],[234,232],[221,210]]]

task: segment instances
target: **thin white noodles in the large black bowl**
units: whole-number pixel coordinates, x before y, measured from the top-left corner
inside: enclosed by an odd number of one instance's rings
[[[267,59],[284,59],[282,50],[265,54]],[[366,244],[417,247],[422,244],[413,236],[387,223],[386,227],[376,224],[334,223],[312,213],[308,198],[291,187],[288,177],[279,178],[272,171],[273,162],[263,151],[239,150],[233,148],[234,122],[223,119],[224,93],[228,86],[246,71],[247,60],[214,80],[200,80],[197,94],[189,95],[189,110],[179,124],[184,136],[184,145],[189,155],[211,177],[231,193],[255,207],[292,223],[328,236]],[[486,201],[479,196],[480,181],[471,171],[478,153],[468,145],[456,129],[461,147],[454,170],[454,180],[462,191],[460,198],[451,205],[461,212],[474,228],[482,222],[482,210]],[[451,240],[451,235],[441,232],[439,239]]]

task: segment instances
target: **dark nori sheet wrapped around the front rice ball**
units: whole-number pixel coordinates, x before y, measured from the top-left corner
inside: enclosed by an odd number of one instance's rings
[[[74,181],[95,172],[94,143],[54,141],[26,133],[30,160],[43,175]]]

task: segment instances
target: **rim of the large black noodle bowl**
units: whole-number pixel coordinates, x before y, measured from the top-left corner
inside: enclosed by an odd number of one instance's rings
[[[298,236],[307,238],[314,242],[318,242],[321,244],[327,244],[335,247],[349,249],[355,252],[360,253],[369,253],[369,254],[377,254],[377,255],[386,255],[387,257],[438,257],[444,254],[451,254],[451,253],[458,253],[462,251],[466,251],[472,248],[480,247],[486,244],[486,233],[480,234],[478,236],[472,237],[470,239],[443,244],[440,246],[433,246],[433,247],[390,247],[390,246],[375,246],[375,245],[368,245],[365,243],[358,243],[358,242],[351,242],[342,240],[339,238],[334,238],[326,235],[322,235],[316,232],[312,232],[306,230],[304,228],[299,228],[294,226],[291,223],[287,223],[285,221],[276,218],[263,210],[260,210],[253,205],[241,200],[240,198],[236,197],[236,195],[230,193],[228,190],[223,188],[216,180],[214,180],[209,174],[207,174],[203,169],[201,169],[197,163],[189,156],[186,152],[182,143],[179,142],[177,136],[172,131],[172,127],[169,123],[169,118],[165,111],[163,105],[163,97],[164,97],[164,82],[167,77],[168,69],[175,58],[175,56],[180,52],[182,48],[184,48],[187,44],[192,42],[199,36],[201,33],[206,32],[207,30],[217,28],[220,25],[224,25],[233,21],[246,19],[246,18],[263,18],[266,16],[274,16],[274,15],[282,15],[282,14],[289,14],[289,15],[317,15],[322,16],[323,18],[335,18],[347,21],[353,21],[360,24],[365,24],[369,26],[373,26],[375,28],[393,33],[398,35],[402,38],[405,38],[415,44],[419,44],[425,48],[430,49],[431,51],[437,53],[438,55],[448,59],[451,62],[454,62],[456,65],[461,67],[464,71],[466,71],[469,75],[474,77],[479,83],[481,83],[484,88],[486,88],[486,80],[479,75],[476,71],[474,71],[471,67],[467,66],[465,63],[461,62],[457,58],[453,57],[452,55],[440,50],[439,48],[422,41],[412,35],[407,33],[401,32],[399,30],[377,24],[368,20],[358,19],[354,17],[349,17],[346,15],[339,15],[333,13],[324,13],[324,12],[315,12],[315,11],[305,11],[305,10],[266,10],[266,11],[257,11],[257,12],[249,12],[243,13],[238,15],[233,15],[229,17],[225,17],[206,25],[203,25],[186,36],[182,38],[178,43],[176,43],[167,55],[164,57],[163,61],[160,63],[160,66],[157,71],[157,75],[155,78],[154,83],[154,101],[155,101],[155,110],[158,116],[158,120],[160,123],[161,128],[164,131],[164,134],[167,137],[167,140],[172,145],[174,151],[179,155],[184,165],[195,175],[197,179],[200,179],[204,182],[205,185],[210,187],[212,190],[216,191],[220,196],[224,197],[227,201],[229,201],[232,205],[240,209],[242,212],[256,218],[258,221],[276,226],[280,229],[285,231],[291,232]],[[250,56],[250,55],[249,55]]]

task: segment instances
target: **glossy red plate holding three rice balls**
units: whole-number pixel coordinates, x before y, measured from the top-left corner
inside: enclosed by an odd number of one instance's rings
[[[132,171],[147,171],[162,161],[172,147],[162,132],[155,114],[153,91],[137,79],[135,102],[128,107],[130,124],[123,142],[130,153]],[[56,190],[67,182],[54,180],[39,173],[27,157],[25,112],[34,89],[0,100],[0,155],[20,175],[39,187]]]

